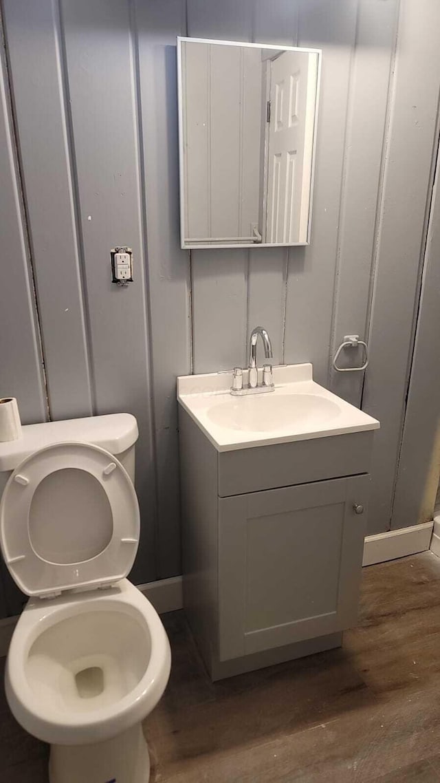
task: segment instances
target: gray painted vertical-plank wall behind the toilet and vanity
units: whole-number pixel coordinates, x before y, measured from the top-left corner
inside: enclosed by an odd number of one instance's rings
[[[135,581],[180,570],[175,377],[245,363],[257,323],[276,361],[312,361],[316,380],[382,421],[370,519],[371,532],[388,529],[431,193],[440,6],[3,0],[2,14],[0,225],[14,263],[0,287],[0,335],[13,335],[0,394],[19,398],[24,420],[44,420],[46,378],[54,419],[138,418]],[[310,247],[180,249],[178,34],[323,49]],[[115,244],[134,251],[126,289],[110,283]],[[353,332],[370,338],[365,378],[330,370]]]

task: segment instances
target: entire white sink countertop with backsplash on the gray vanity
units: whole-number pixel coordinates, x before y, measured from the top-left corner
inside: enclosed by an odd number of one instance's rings
[[[249,449],[348,432],[380,424],[313,381],[311,364],[273,368],[275,391],[233,396],[233,373],[177,379],[179,403],[220,451]]]

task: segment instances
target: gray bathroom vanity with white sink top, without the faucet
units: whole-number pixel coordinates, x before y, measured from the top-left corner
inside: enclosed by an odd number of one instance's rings
[[[178,379],[184,606],[213,680],[341,645],[355,625],[379,422],[273,367]]]

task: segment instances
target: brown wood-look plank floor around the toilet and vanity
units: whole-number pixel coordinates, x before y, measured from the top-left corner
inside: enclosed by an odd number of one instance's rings
[[[182,612],[145,722],[152,783],[440,783],[440,559],[363,570],[344,647],[212,684]],[[0,698],[0,781],[47,783],[47,750]],[[97,781],[100,783],[100,781]]]

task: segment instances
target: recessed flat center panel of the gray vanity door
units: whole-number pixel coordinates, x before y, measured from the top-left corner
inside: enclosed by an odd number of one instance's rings
[[[246,631],[337,611],[343,524],[344,503],[247,520]]]

